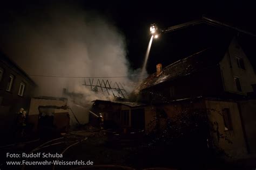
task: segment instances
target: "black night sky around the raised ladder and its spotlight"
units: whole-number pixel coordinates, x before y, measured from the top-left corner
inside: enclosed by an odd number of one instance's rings
[[[1,3],[2,23],[9,23],[10,11],[18,11],[22,14],[31,8],[43,9],[55,1],[2,1]],[[70,1],[69,3],[77,3],[87,11],[95,10],[102,13],[123,32],[126,38],[127,58],[134,69],[142,67],[150,39],[151,23],[156,23],[164,29],[207,15],[256,33],[256,9],[253,1]],[[207,25],[163,34],[153,41],[147,70],[153,73],[159,62],[167,66],[179,58],[210,46],[209,41],[213,39],[214,42],[218,42],[222,37],[233,34],[236,33]],[[255,39],[245,34],[240,35],[241,45],[254,66],[256,66]],[[205,43],[207,40],[208,42]]]

